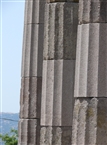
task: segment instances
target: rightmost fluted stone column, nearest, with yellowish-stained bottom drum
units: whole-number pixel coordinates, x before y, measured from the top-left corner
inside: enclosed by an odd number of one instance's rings
[[[107,2],[80,0],[72,145],[107,144]]]

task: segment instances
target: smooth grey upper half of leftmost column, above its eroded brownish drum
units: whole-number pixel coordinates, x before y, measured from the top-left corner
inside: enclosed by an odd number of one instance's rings
[[[42,76],[44,0],[26,0],[21,76]]]

